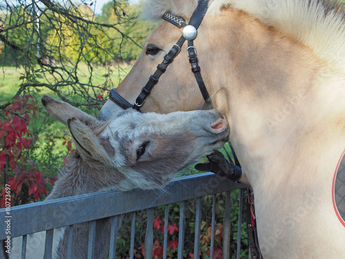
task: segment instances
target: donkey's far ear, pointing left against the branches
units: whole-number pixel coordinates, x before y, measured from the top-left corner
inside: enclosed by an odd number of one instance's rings
[[[67,125],[68,118],[71,117],[75,117],[81,122],[92,122],[95,120],[94,117],[80,111],[78,108],[75,108],[66,102],[59,102],[48,95],[43,95],[41,102],[52,117],[55,117],[55,119],[65,125]]]

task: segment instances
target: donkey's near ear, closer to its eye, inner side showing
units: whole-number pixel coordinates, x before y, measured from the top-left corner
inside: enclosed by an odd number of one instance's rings
[[[71,118],[67,120],[67,125],[81,156],[92,158],[92,160],[99,161],[102,164],[111,164],[112,160],[106,152],[106,149],[86,124],[83,124],[77,118]]]

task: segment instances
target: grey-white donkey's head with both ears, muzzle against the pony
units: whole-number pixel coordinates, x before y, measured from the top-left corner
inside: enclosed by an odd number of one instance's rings
[[[46,95],[42,103],[68,125],[83,162],[104,174],[117,174],[120,189],[164,186],[228,140],[228,123],[214,110],[164,115],[128,109],[103,122]]]

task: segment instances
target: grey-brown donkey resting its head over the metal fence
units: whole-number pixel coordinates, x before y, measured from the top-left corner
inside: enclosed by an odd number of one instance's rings
[[[161,115],[128,109],[108,122],[44,95],[48,113],[66,124],[77,151],[68,157],[46,200],[101,190],[161,188],[186,166],[221,148],[228,140],[226,119],[217,111]],[[88,256],[88,224],[74,226],[72,258]],[[43,258],[45,232],[28,236],[26,258]],[[53,258],[67,258],[68,233],[55,229]],[[14,238],[10,258],[21,258],[21,238]],[[98,220],[95,254],[106,258],[110,222]]]

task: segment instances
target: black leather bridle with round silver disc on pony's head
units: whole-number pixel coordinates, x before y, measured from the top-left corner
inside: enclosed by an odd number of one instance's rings
[[[159,77],[161,77],[161,75],[166,71],[168,65],[172,63],[175,57],[179,54],[181,46],[184,44],[184,41],[187,40],[187,54],[189,57],[190,65],[192,66],[192,71],[195,75],[195,79],[197,79],[197,84],[199,86],[202,96],[204,97],[205,102],[207,104],[210,104],[210,95],[208,95],[206,86],[204,84],[204,80],[201,77],[200,67],[198,66],[197,60],[197,51],[195,50],[195,47],[193,45],[193,39],[197,37],[197,28],[199,28],[202,19],[204,19],[207,8],[208,0],[201,0],[197,8],[193,12],[192,17],[190,17],[188,25],[186,25],[186,21],[182,17],[173,15],[170,12],[166,12],[162,18],[174,24],[178,28],[183,27],[184,29],[182,30],[182,36],[179,38],[177,43],[174,46],[172,46],[168,54],[164,56],[164,60],[161,62],[161,64],[157,66],[157,70],[155,71],[155,73],[153,75],[150,75],[148,83],[141,89],[141,93],[135,100],[134,105],[130,104],[130,102],[124,99],[124,97],[121,97],[121,95],[117,93],[115,88],[112,88],[110,90],[109,99],[112,100],[112,102],[115,102],[115,104],[117,104],[123,109],[135,108],[139,111],[140,107],[144,104],[146,97],[150,95],[152,88],[158,83]]]

